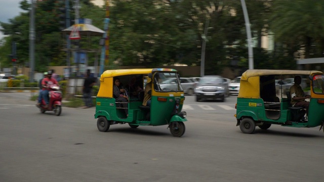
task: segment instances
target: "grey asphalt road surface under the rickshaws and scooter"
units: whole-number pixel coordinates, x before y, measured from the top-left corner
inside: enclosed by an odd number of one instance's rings
[[[0,181],[296,182],[324,177],[324,133],[318,127],[272,125],[243,134],[233,113],[193,110],[187,112],[185,134],[175,138],[166,125],[133,129],[117,124],[100,132],[94,108],[41,114],[34,102],[5,93],[0,103],[11,106],[0,109]]]

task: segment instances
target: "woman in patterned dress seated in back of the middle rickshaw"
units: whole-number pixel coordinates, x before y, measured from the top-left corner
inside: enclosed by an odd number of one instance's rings
[[[129,98],[127,96],[126,89],[120,87],[120,80],[118,77],[113,78],[113,97],[116,102],[120,102],[123,108],[128,108]],[[126,116],[128,116],[128,109],[124,109]]]

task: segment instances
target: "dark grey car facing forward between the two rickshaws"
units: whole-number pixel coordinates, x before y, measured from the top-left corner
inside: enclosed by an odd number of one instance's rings
[[[227,82],[224,78],[217,75],[203,76],[199,79],[194,89],[196,101],[203,99],[219,99],[224,102],[226,95]]]

